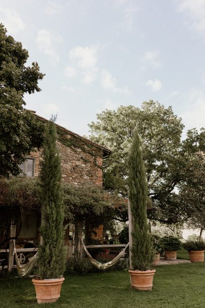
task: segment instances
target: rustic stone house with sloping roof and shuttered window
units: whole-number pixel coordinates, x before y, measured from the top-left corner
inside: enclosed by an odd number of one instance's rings
[[[38,116],[34,111],[32,113],[39,121],[47,122],[48,120]],[[80,136],[58,124],[56,124],[58,132],[58,146],[61,155],[62,164],[62,180],[74,185],[83,185],[85,183],[94,183],[103,185],[102,165],[103,158],[110,155],[111,151],[100,146],[83,136]],[[20,165],[22,171],[28,177],[37,177],[39,175],[40,152],[31,152],[25,157],[24,163]],[[0,207],[1,217],[1,207]],[[3,218],[3,215],[2,215]],[[0,219],[1,223],[1,219]],[[39,242],[39,225],[40,215],[37,211],[31,210],[24,215],[21,231],[18,235],[19,243]],[[1,231],[1,230],[0,230]],[[66,232],[67,244],[69,245],[69,229]],[[100,226],[96,230],[96,239],[102,239],[103,227]],[[1,232],[0,232],[1,240]],[[1,241],[0,241],[1,242]],[[17,244],[18,244],[17,242]]]

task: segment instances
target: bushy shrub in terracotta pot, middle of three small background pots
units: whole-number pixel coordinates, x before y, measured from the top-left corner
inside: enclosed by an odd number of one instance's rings
[[[182,243],[179,238],[174,236],[163,236],[161,238],[161,244],[165,248],[165,259],[176,260],[177,251],[182,249]]]

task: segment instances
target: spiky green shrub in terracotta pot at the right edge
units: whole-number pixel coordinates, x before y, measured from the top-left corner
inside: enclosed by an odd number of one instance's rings
[[[204,261],[205,242],[202,238],[188,239],[183,243],[183,248],[188,250],[189,259],[191,262]]]

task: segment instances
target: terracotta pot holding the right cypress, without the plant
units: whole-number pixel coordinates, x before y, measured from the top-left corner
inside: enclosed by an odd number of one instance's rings
[[[133,289],[151,291],[155,269],[150,270],[129,270],[131,285]]]

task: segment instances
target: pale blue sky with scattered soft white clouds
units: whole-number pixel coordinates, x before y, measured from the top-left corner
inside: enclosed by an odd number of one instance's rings
[[[0,0],[0,22],[45,73],[26,108],[80,135],[105,109],[157,100],[204,127],[205,0]]]

